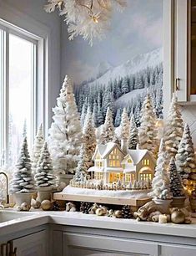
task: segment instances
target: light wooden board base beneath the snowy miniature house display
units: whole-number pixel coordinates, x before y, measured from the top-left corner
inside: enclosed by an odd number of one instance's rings
[[[97,202],[102,204],[129,205],[134,210],[138,210],[138,208],[143,206],[146,202],[151,201],[151,198],[100,197],[94,195],[72,195],[63,192],[54,193],[53,199],[71,202]]]

